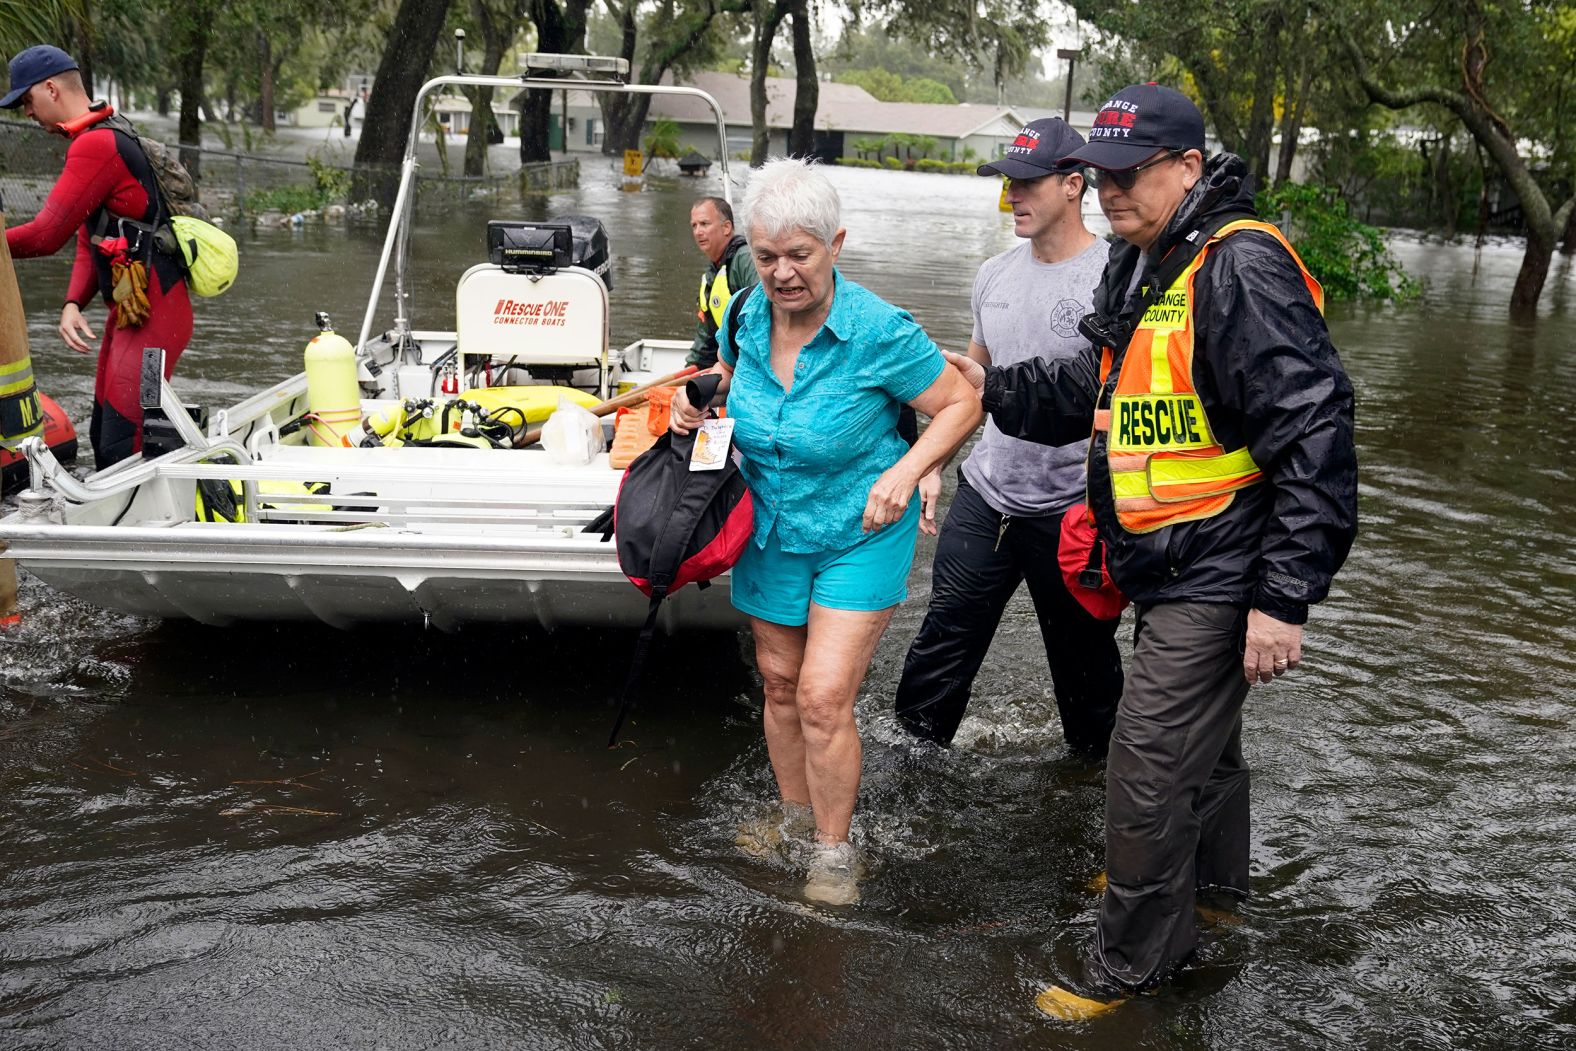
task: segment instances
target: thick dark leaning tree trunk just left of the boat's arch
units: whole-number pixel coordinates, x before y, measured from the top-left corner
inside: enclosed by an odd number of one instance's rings
[[[394,203],[399,165],[410,136],[410,112],[448,14],[449,0],[400,0],[361,123],[351,169],[353,200],[375,200],[383,208]]]

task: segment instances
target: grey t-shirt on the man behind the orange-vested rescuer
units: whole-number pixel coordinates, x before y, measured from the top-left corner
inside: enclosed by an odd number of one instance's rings
[[[1072,358],[1087,345],[1078,318],[1089,314],[1110,244],[1095,243],[1061,263],[1040,263],[1024,241],[985,260],[974,277],[974,342],[993,366],[1029,358]],[[1039,517],[1083,500],[1087,441],[1042,446],[1010,438],[985,419],[985,433],[963,463],[969,481],[1004,515]]]

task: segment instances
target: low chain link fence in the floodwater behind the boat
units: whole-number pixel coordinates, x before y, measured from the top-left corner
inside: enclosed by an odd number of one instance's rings
[[[173,145],[165,140],[167,145]],[[236,150],[199,148],[203,205],[232,221],[266,221],[271,216],[318,211],[348,200],[350,169],[326,161],[263,156]],[[66,140],[35,124],[0,121],[0,203],[8,225],[27,222],[44,205],[65,164]],[[444,176],[426,165],[418,172],[416,205],[452,208],[487,197],[509,199],[574,189],[580,162],[526,164],[512,172],[484,176]],[[347,214],[362,214],[347,208]]]

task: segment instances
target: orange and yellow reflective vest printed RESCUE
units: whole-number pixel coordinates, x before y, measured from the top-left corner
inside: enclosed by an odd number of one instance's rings
[[[1196,304],[1193,279],[1223,238],[1242,230],[1269,233],[1284,246],[1324,314],[1324,290],[1297,251],[1269,222],[1228,222],[1204,243],[1139,320],[1116,377],[1111,407],[1095,411],[1094,429],[1106,435],[1106,465],[1116,517],[1128,533],[1152,533],[1225,511],[1239,488],[1264,479],[1247,448],[1215,440],[1193,384]],[[1100,381],[1111,375],[1113,353],[1102,348]]]

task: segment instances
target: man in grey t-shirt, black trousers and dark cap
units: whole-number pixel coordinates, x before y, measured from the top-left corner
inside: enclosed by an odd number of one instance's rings
[[[1083,145],[1062,120],[1029,121],[1007,154],[979,169],[1007,176],[1013,232],[1024,241],[974,279],[969,356],[1010,366],[1072,358],[1087,347],[1089,314],[1108,246],[1083,224],[1083,175],[1054,159]],[[909,733],[950,744],[1007,600],[1029,585],[1067,745],[1105,755],[1122,696],[1117,621],[1097,621],[1067,591],[1056,558],[1062,515],[1084,495],[1087,443],[1043,446],[985,422],[963,463],[958,492],[936,540],[930,610],[903,662],[897,715]],[[935,506],[939,476],[920,482]]]

